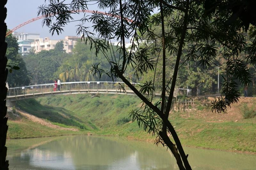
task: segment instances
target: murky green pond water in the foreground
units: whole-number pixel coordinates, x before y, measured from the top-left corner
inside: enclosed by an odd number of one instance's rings
[[[7,141],[9,169],[172,170],[162,146],[122,138],[65,136]],[[256,155],[187,148],[192,169],[256,169]]]

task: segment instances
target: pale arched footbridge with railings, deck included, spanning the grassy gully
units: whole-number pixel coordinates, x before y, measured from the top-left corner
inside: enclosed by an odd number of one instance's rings
[[[139,83],[132,83],[132,85],[138,90],[141,88]],[[123,88],[121,88],[121,86]],[[189,91],[189,89],[176,89],[174,96],[177,95],[179,90]],[[60,83],[60,90],[57,88],[56,91],[54,91],[54,83],[9,88],[6,101],[14,102],[27,98],[68,94],[92,94],[93,96],[98,96],[99,94],[135,95],[135,93],[124,82],[79,81]],[[160,97],[161,92],[155,92],[154,96]]]

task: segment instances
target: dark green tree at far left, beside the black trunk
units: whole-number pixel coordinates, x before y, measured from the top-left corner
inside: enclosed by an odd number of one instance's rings
[[[7,65],[13,67],[18,66],[19,70],[12,70],[12,74],[8,74],[7,82],[9,87],[27,86],[30,83],[30,77],[27,71],[26,64],[19,54],[19,45],[17,39],[12,35],[5,38],[7,42],[6,57],[8,58]]]

